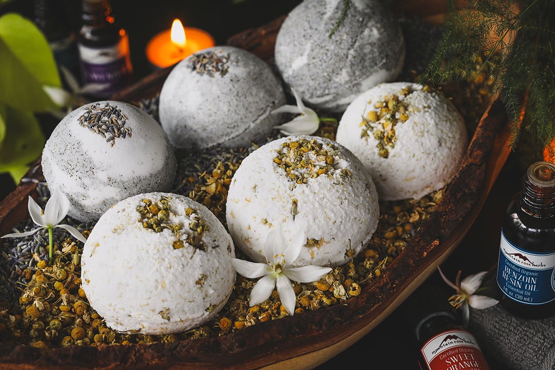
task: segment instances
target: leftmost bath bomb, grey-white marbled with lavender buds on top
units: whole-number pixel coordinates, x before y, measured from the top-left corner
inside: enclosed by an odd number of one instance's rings
[[[48,187],[67,195],[68,214],[80,221],[98,220],[129,196],[170,190],[176,168],[174,148],[157,121],[110,100],[65,116],[42,152]]]

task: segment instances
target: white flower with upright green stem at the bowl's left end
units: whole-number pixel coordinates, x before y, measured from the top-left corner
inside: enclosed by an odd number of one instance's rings
[[[79,230],[75,229],[75,227],[65,224],[58,225],[60,222],[62,222],[69,210],[69,200],[67,199],[65,194],[63,194],[63,192],[59,190],[54,191],[54,194],[52,194],[50,199],[48,199],[48,201],[46,202],[46,206],[44,206],[44,211],[31,196],[29,196],[27,207],[29,209],[29,215],[31,215],[31,219],[33,220],[33,222],[41,227],[38,227],[37,229],[31,231],[13,232],[12,234],[6,234],[2,236],[3,238],[28,236],[36,233],[39,230],[47,229],[49,237],[48,239],[50,241],[50,263],[52,263],[52,229],[54,229],[54,227],[61,227],[62,229],[67,230],[69,234],[75,237],[75,239],[82,241],[83,243],[87,241],[87,239],[85,239],[85,237],[79,232]]]

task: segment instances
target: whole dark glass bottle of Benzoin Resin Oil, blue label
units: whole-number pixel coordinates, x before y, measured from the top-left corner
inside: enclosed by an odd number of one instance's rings
[[[532,164],[503,217],[497,284],[507,311],[523,318],[555,314],[555,165]]]

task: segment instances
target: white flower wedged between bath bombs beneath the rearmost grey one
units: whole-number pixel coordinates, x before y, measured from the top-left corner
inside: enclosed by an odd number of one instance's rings
[[[301,114],[294,119],[282,125],[274,126],[284,135],[312,135],[316,132],[320,125],[320,119],[316,112],[310,108],[306,108],[302,103],[302,99],[295,89],[291,88],[291,92],[295,96],[297,105],[283,105],[274,109],[271,113],[295,113]]]

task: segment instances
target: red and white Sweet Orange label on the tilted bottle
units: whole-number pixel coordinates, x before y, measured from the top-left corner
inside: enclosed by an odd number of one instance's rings
[[[429,370],[489,370],[476,338],[462,330],[447,330],[428,340],[420,350]]]

